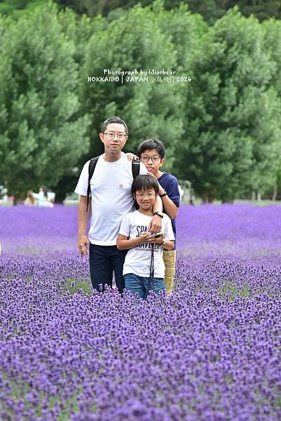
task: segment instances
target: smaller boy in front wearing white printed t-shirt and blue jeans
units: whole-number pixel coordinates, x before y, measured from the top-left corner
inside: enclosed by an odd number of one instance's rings
[[[123,266],[125,288],[143,299],[149,290],[156,294],[165,290],[163,248],[174,248],[174,233],[167,215],[163,215],[163,235],[156,237],[148,230],[158,191],[158,182],[151,175],[138,175],[135,178],[132,194],[139,209],[125,215],[117,239],[117,248],[128,250]]]

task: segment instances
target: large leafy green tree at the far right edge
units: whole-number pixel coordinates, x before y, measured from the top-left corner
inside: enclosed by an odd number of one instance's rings
[[[200,39],[189,66],[181,178],[205,201],[273,186],[281,107],[261,24],[228,11]]]

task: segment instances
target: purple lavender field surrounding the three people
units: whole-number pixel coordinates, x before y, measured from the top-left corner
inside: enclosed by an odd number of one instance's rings
[[[175,292],[93,294],[74,207],[0,208],[0,419],[281,419],[281,206],[182,206]]]

